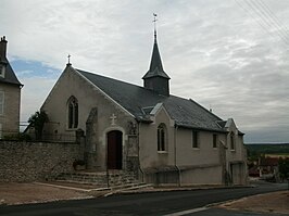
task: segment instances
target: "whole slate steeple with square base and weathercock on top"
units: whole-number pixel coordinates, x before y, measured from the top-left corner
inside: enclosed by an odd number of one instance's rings
[[[144,88],[154,90],[160,94],[169,96],[169,87],[168,87],[169,77],[163,69],[163,64],[156,41],[156,27],[155,27],[155,22],[158,21],[156,14],[153,14],[153,16],[154,16],[153,17],[154,42],[153,42],[150,68],[147,72],[147,74],[142,77],[143,85]]]

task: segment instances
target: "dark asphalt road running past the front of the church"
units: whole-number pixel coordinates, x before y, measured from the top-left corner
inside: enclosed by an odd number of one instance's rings
[[[253,188],[118,194],[90,200],[60,201],[46,204],[27,204],[18,206],[0,206],[0,215],[177,215],[176,213],[180,213],[179,215],[181,215],[181,212],[184,211],[191,211],[212,203],[286,189],[286,183],[261,183]],[[193,215],[202,215],[201,213],[202,212],[199,212]],[[204,213],[210,213],[210,211],[205,211],[203,214]],[[188,212],[188,215],[192,214]]]

